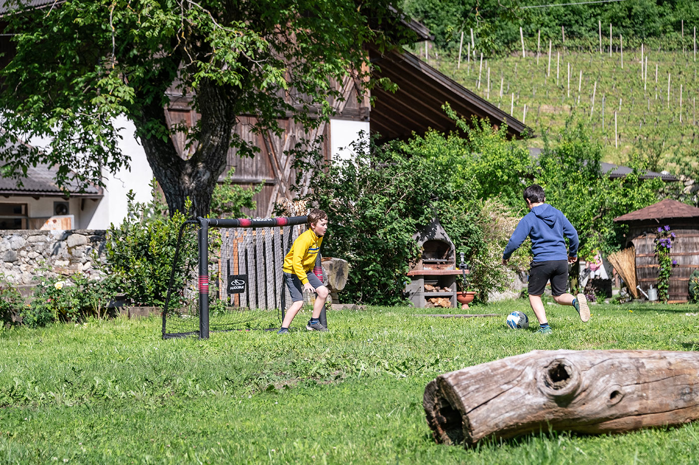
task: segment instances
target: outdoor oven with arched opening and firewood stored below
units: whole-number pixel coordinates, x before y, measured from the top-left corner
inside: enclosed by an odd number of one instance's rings
[[[456,279],[462,272],[456,269],[456,250],[447,231],[434,217],[412,238],[421,249],[421,255],[408,271],[410,282],[405,287],[408,299],[417,308],[456,308]]]

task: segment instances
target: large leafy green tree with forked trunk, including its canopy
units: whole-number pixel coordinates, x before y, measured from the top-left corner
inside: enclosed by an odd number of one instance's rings
[[[49,138],[46,152],[4,150],[3,174],[59,166],[57,182],[101,183],[103,169],[129,163],[117,148],[115,117],[136,126],[171,213],[192,199],[206,215],[240,115],[258,131],[278,118],[312,127],[328,117],[332,80],[370,73],[366,45],[409,41],[412,31],[389,0],[68,0],[25,8],[6,0],[3,31],[16,53],[0,71],[0,147]],[[19,3],[19,4],[18,4]],[[191,92],[194,127],[168,127],[166,91]],[[173,137],[194,149],[180,157]]]

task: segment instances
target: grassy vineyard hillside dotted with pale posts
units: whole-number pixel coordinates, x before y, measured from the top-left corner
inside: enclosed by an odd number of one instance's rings
[[[614,45],[617,44],[615,39]],[[543,42],[543,39],[542,39]],[[542,43],[542,49],[544,48]],[[552,50],[551,69],[547,76],[548,48],[542,50],[539,64],[535,52],[483,62],[481,85],[478,86],[480,61],[464,63],[456,68],[456,57],[430,60],[442,73],[454,78],[469,90],[510,113],[514,93],[513,115],[519,120],[524,117],[526,104],[526,124],[537,134],[541,131],[558,129],[572,113],[592,131],[593,137],[603,145],[606,161],[626,162],[635,139],[650,138],[658,141],[658,155],[661,162],[658,169],[668,169],[675,173],[686,173],[689,164],[694,173],[699,171],[699,115],[695,115],[694,101],[698,99],[699,62],[694,62],[691,50],[664,52],[644,50],[647,57],[647,80],[641,78],[641,50],[624,50],[624,69],[621,69],[621,54],[614,52],[578,52],[575,50]],[[556,60],[560,54],[559,79],[556,82]],[[423,55],[424,58],[424,55]],[[572,68],[570,94],[568,88],[568,63]],[[658,83],[655,82],[656,64]],[[487,69],[490,68],[490,92],[487,90]],[[582,70],[582,83],[580,71]],[[670,104],[668,106],[668,73],[670,73]],[[503,83],[503,96],[500,96],[500,83]],[[595,107],[590,117],[594,83]],[[578,84],[580,92],[578,93]],[[682,112],[679,94],[682,85]],[[579,101],[578,101],[579,96]],[[602,128],[602,101],[605,99],[605,127]],[[621,99],[621,109],[619,108]],[[614,111],[617,111],[617,131],[619,147],[614,143]],[[682,122],[679,121],[682,113]],[[664,145],[663,145],[664,141]],[[540,138],[529,143],[542,146]],[[681,166],[677,159],[681,159]]]

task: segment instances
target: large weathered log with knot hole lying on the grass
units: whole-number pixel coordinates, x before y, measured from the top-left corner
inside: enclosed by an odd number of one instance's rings
[[[699,352],[535,350],[440,375],[423,406],[435,441],[466,447],[682,424],[699,417]]]

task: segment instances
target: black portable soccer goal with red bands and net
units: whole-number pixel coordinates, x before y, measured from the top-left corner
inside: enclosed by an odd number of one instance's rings
[[[211,331],[279,327],[289,302],[282,279],[284,256],[305,230],[306,220],[199,217],[182,224],[162,315],[163,338],[205,339]]]

